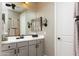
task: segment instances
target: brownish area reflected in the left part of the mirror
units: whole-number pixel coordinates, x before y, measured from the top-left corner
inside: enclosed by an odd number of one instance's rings
[[[20,13],[8,10],[8,35],[20,35]]]

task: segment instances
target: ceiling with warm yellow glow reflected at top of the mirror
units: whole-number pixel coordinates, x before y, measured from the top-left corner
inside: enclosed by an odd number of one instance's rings
[[[30,8],[34,9],[35,5],[36,5],[35,2],[33,2],[33,3],[30,2],[29,4],[25,4],[24,2],[7,2],[7,3],[8,4],[12,4],[12,3],[15,4],[16,5],[15,9],[12,9],[11,7],[7,7],[7,6],[6,7],[12,11],[19,12],[19,13],[26,11]],[[3,2],[3,4],[6,4],[6,2],[5,3]]]

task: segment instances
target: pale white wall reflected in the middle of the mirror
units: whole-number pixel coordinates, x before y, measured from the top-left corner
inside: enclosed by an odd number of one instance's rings
[[[28,29],[27,22],[31,21],[32,19],[36,18],[36,13],[35,11],[24,11],[23,13],[20,14],[20,34],[26,35],[30,31]]]

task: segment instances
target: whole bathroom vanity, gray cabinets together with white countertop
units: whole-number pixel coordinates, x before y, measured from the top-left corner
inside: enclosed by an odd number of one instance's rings
[[[44,36],[38,37],[24,36],[7,37],[7,41],[1,43],[2,56],[43,56],[44,55]]]

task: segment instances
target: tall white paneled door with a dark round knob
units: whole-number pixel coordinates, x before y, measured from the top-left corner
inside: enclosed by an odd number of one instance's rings
[[[74,3],[55,3],[56,55],[74,55]]]

